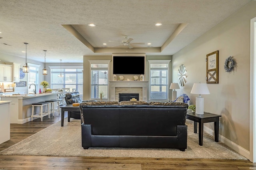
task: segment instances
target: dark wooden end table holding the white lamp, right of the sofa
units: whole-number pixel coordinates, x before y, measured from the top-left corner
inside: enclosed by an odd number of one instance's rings
[[[203,132],[204,132],[204,123],[214,122],[214,138],[215,142],[219,142],[219,117],[221,115],[215,115],[212,113],[204,112],[203,115],[198,115],[192,113],[191,111],[187,112],[187,119],[194,121],[194,133],[197,133],[197,123],[199,124],[199,145],[203,145]]]

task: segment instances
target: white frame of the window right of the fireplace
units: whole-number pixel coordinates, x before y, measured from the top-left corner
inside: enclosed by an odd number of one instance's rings
[[[149,63],[149,87],[148,87],[148,101],[163,101],[167,102],[169,101],[170,96],[170,62],[171,60],[148,60]],[[167,69],[162,68],[162,70],[167,70],[166,75],[166,99],[151,99],[151,64],[167,64]],[[161,70],[161,68],[158,68],[158,70]]]

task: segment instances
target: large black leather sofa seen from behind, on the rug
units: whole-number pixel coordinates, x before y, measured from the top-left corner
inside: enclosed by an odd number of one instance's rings
[[[82,147],[187,148],[188,104],[83,102]]]

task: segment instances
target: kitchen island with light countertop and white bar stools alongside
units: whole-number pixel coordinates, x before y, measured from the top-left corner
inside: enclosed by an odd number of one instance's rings
[[[32,104],[56,99],[56,93],[19,94],[1,96],[2,101],[12,101],[10,104],[10,123],[23,124],[31,121]],[[36,113],[39,108],[36,109]]]

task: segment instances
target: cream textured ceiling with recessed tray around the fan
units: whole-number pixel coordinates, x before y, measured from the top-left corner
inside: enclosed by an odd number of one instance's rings
[[[26,42],[27,58],[44,62],[47,50],[47,63],[112,53],[173,55],[250,1],[0,0],[0,52],[24,58]],[[124,35],[145,45],[112,48],[120,43],[109,41]]]

